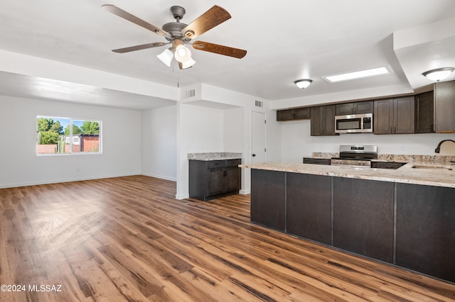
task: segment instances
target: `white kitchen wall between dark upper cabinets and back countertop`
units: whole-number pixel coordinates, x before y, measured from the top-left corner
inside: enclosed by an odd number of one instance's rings
[[[338,152],[339,145],[378,145],[379,154],[437,155],[434,149],[444,139],[455,140],[455,134],[422,133],[374,135],[372,133],[311,136],[310,121],[281,122],[282,162],[302,162],[312,152]],[[444,143],[450,145],[450,142]],[[455,145],[455,144],[452,144]],[[449,147],[449,146],[448,146]],[[442,150],[442,149],[441,149]],[[441,152],[444,155],[446,152]]]

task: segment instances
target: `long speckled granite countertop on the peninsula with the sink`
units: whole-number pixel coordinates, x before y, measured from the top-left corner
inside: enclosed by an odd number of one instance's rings
[[[416,169],[413,168],[414,166],[431,167],[432,169]],[[240,164],[239,167],[455,188],[455,165],[450,164],[441,165],[428,164],[426,162],[410,162],[396,170],[325,166],[321,164],[286,164],[280,162]]]

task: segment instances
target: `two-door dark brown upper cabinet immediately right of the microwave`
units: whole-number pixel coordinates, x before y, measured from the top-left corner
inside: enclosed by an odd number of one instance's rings
[[[374,101],[373,132],[414,133],[414,96]]]

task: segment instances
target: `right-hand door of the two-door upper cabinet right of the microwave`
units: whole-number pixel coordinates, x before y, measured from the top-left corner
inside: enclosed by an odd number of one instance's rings
[[[414,96],[394,99],[394,131],[396,134],[414,133]]]

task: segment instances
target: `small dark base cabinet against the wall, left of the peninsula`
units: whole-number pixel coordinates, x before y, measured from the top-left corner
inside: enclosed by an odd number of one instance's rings
[[[242,160],[190,160],[190,197],[203,201],[237,194],[241,184]]]

